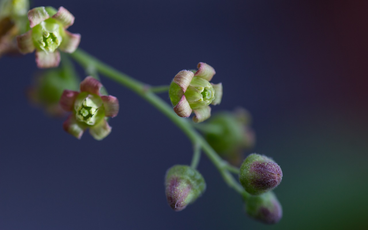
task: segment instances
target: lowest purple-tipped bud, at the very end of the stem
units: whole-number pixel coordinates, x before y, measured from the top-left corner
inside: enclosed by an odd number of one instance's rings
[[[266,224],[275,224],[282,218],[282,206],[273,192],[250,196],[245,210],[250,217]]]

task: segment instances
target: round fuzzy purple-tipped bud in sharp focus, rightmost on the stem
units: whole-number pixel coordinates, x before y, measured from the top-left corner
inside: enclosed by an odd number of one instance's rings
[[[281,179],[280,166],[266,156],[252,153],[241,164],[239,180],[250,194],[272,190],[280,184]]]

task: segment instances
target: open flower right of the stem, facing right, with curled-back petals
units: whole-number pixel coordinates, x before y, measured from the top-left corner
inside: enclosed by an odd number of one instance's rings
[[[211,116],[209,104],[220,104],[222,84],[209,81],[215,70],[208,64],[198,63],[197,72],[183,70],[178,72],[171,82],[169,96],[174,112],[180,117],[189,117],[192,112],[195,123],[202,122]]]

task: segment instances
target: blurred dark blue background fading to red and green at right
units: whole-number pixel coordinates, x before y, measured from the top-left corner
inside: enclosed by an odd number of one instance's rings
[[[0,229],[367,229],[367,1],[82,1],[64,6],[80,47],[152,85],[199,61],[222,82],[221,105],[253,117],[256,145],[275,159],[283,219],[250,219],[240,196],[202,156],[207,190],[182,212],[164,174],[192,147],[160,112],[102,77],[120,100],[112,133],[77,140],[64,119],[29,104],[34,54],[0,59]],[[78,67],[79,76],[86,74]],[[169,102],[166,93],[160,94]],[[175,149],[176,144],[187,144]]]

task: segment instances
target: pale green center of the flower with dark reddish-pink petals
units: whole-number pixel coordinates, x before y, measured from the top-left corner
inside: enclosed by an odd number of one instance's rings
[[[105,108],[98,95],[81,92],[74,103],[75,117],[88,125],[98,123],[105,117]]]

